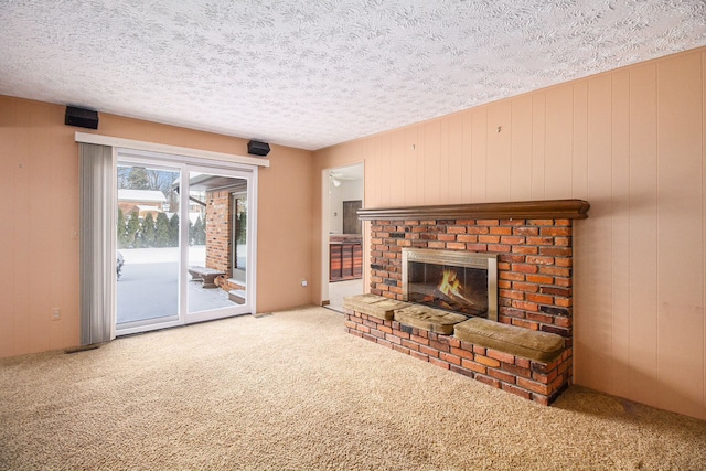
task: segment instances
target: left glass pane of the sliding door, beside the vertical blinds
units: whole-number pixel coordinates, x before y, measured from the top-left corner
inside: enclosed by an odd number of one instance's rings
[[[179,320],[180,173],[118,162],[118,332]]]

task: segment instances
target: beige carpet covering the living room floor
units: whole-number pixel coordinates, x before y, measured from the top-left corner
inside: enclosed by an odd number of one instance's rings
[[[309,308],[0,361],[0,469],[699,470],[706,422],[538,406]]]

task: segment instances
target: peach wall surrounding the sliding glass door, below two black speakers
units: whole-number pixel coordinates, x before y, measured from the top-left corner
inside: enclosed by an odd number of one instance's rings
[[[0,96],[0,357],[78,344],[78,144],[65,107]],[[100,114],[105,136],[247,156],[247,140]],[[258,311],[310,302],[312,154],[259,170]],[[297,184],[292,184],[297,182]],[[286,189],[286,193],[282,191]],[[60,321],[51,310],[62,310]]]

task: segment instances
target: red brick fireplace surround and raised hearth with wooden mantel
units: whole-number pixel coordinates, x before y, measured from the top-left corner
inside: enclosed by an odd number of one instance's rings
[[[588,208],[585,201],[556,200],[359,212],[362,220],[371,221],[371,295],[404,300],[403,249],[493,254],[498,260],[498,322],[560,335],[565,347],[558,358],[549,363],[533,361],[395,320],[379,322],[350,309],[346,330],[549,404],[571,383],[573,222],[588,217]]]

